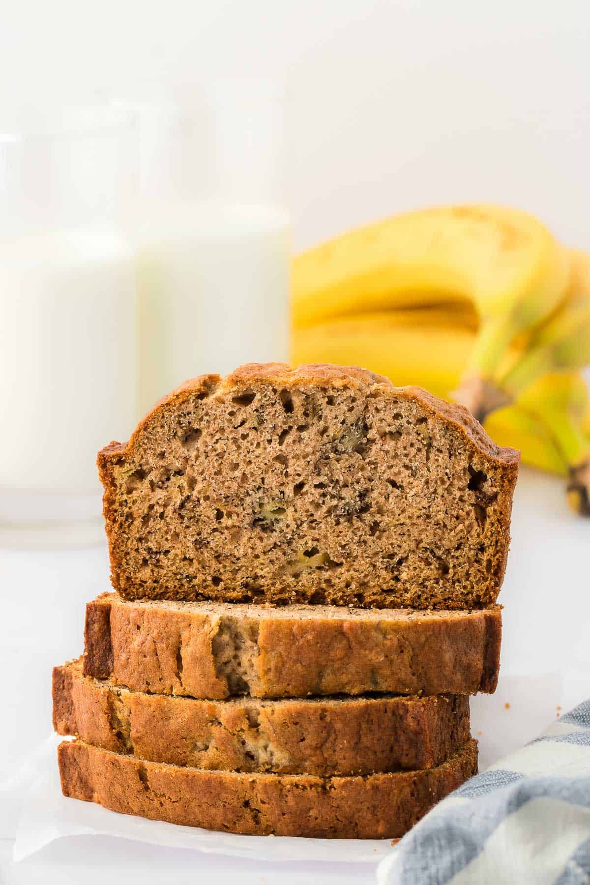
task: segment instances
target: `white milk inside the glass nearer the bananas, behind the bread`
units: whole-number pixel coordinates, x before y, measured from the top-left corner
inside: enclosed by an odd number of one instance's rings
[[[195,375],[288,358],[287,213],[176,206],[138,247],[140,407]]]

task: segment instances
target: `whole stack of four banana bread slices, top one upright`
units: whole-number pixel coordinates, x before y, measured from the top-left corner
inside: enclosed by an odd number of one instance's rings
[[[115,593],[56,667],[65,796],[254,835],[403,835],[477,770],[517,452],[354,367],[188,381],[98,466]]]

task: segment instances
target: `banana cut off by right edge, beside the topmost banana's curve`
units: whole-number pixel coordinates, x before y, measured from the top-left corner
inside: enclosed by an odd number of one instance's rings
[[[533,330],[515,364],[498,386],[515,398],[540,375],[590,364],[590,256],[571,250],[567,295],[540,327]]]

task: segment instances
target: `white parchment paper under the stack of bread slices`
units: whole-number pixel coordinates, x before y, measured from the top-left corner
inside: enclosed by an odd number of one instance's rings
[[[480,767],[487,767],[532,740],[561,710],[587,696],[589,686],[587,674],[570,679],[556,673],[504,676],[493,696],[472,698],[471,733],[479,739]],[[392,850],[389,839],[299,839],[213,833],[143,820],[107,811],[94,803],[67,799],[62,796],[57,772],[60,740],[51,735],[26,766],[0,786],[3,799],[7,800],[3,804],[12,808],[13,820],[18,820],[15,860],[27,858],[55,839],[72,835],[119,836],[172,848],[273,861],[376,863]],[[14,802],[10,805],[11,797]]]

